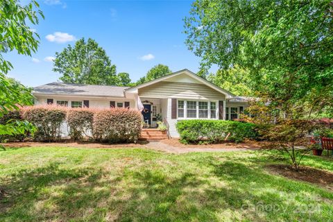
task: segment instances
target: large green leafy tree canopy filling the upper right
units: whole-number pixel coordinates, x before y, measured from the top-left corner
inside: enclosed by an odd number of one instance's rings
[[[333,95],[332,19],[330,0],[197,0],[185,18],[185,33],[203,69],[246,69],[257,96],[266,100],[261,105],[269,103],[266,112],[279,110],[284,122],[293,123],[282,128],[292,131],[310,111],[312,118],[322,108],[332,110],[332,103],[317,100]]]

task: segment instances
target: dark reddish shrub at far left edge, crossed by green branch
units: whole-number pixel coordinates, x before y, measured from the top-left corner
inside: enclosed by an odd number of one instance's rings
[[[6,123],[9,123],[10,121],[15,120],[22,120],[21,114],[19,113],[19,110],[13,110],[3,115],[3,117],[0,118],[0,124],[5,125]],[[23,141],[28,136],[28,132],[20,133],[17,135],[0,135],[0,142],[3,141]]]

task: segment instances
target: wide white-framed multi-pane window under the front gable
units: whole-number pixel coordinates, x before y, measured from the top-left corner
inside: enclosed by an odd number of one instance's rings
[[[177,101],[177,117],[184,119],[217,119],[216,101]]]

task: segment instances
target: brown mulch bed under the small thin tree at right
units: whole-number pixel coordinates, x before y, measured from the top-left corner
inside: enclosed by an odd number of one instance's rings
[[[311,167],[300,167],[300,169],[296,171],[296,169],[291,166],[278,164],[268,165],[267,167],[268,171],[271,173],[293,180],[310,182],[312,184],[333,190],[333,173],[328,171],[314,169]]]

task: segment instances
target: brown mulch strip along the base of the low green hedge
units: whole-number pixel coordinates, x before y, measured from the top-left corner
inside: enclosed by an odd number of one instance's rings
[[[262,147],[262,142],[244,141],[241,143],[234,142],[221,142],[219,144],[182,144],[178,138],[163,139],[162,143],[179,148],[253,148],[258,149]]]

